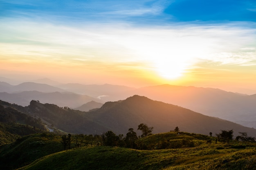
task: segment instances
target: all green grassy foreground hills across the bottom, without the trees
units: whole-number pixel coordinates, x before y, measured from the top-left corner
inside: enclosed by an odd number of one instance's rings
[[[164,141],[176,147],[161,149],[159,146]],[[177,145],[177,141],[181,145]],[[186,142],[193,142],[193,145]],[[147,150],[89,145],[61,151],[60,136],[51,133],[28,135],[0,146],[0,169],[251,170],[256,166],[256,144],[251,142],[215,143],[214,137],[206,135],[168,132],[142,137],[136,144],[147,146]]]

